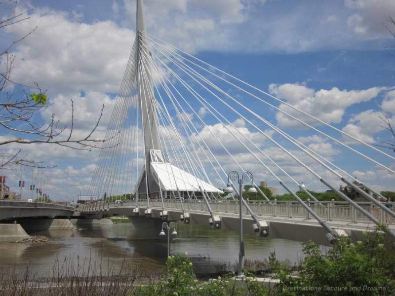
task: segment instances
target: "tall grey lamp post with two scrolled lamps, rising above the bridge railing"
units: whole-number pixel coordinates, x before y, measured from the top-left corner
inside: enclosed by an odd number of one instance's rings
[[[230,183],[230,181],[236,181],[239,185],[239,189],[238,189],[238,204],[239,204],[239,219],[240,219],[240,246],[239,246],[239,252],[238,252],[238,274],[237,277],[238,278],[243,278],[244,277],[244,273],[242,272],[242,268],[244,266],[244,240],[243,240],[243,209],[242,209],[242,201],[243,201],[243,181],[248,182],[251,180],[251,187],[248,189],[248,193],[256,193],[257,190],[253,185],[252,182],[252,173],[249,171],[245,171],[242,175],[241,178],[239,177],[238,173],[236,171],[231,171],[228,174],[228,185],[225,188],[225,192],[226,193],[231,193],[233,192],[233,188],[232,185]]]

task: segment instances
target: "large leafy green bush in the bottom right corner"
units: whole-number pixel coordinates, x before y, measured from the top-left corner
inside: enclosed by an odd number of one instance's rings
[[[395,251],[383,230],[383,226],[377,227],[356,244],[340,237],[327,254],[322,254],[317,244],[304,244],[306,258],[298,268],[298,277],[279,270],[276,295],[394,295]]]

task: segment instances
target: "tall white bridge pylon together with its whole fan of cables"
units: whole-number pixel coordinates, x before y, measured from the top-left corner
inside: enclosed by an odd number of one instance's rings
[[[294,128],[278,127],[276,113],[293,120]],[[341,192],[339,184],[350,186],[395,217],[373,198],[380,194],[371,186],[363,184],[361,190],[359,181],[356,185],[344,158],[320,155],[291,135],[297,129],[331,143],[343,156],[356,154],[372,170],[395,174],[391,165],[383,164],[393,163],[393,156],[148,34],[143,3],[138,0],[136,38],[107,129],[110,140],[100,151],[89,195],[106,202],[134,198],[136,207],[139,199],[146,199],[148,208],[150,200],[160,200],[163,211],[165,199],[182,205],[201,199],[215,221],[218,217],[209,201],[223,198],[228,172],[236,169],[251,171],[254,180],[282,186],[327,230],[328,237],[337,233],[295,193],[301,190],[316,199],[302,181],[332,190],[376,224],[378,219]],[[351,141],[355,144],[347,144]]]

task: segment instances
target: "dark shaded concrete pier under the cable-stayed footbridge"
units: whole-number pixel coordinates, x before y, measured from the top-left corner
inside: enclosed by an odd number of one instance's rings
[[[145,216],[129,216],[134,229],[126,237],[128,240],[150,240],[162,239],[159,237],[159,232],[164,222],[161,219],[155,219]]]

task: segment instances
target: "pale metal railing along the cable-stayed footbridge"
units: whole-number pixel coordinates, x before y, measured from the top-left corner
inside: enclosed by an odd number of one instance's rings
[[[210,206],[214,213],[220,214],[238,214],[237,200],[210,200]],[[260,216],[287,217],[300,219],[314,219],[306,209],[295,200],[247,200],[252,212]],[[324,221],[345,221],[345,222],[369,222],[369,219],[362,213],[357,211],[352,205],[345,201],[306,201],[306,203],[316,212],[316,214]],[[373,217],[380,222],[395,222],[394,218],[389,217],[383,210],[373,207],[371,202],[356,202]],[[160,200],[150,200],[150,207],[162,208]],[[177,200],[168,199],[163,201],[165,210],[182,210],[181,203]],[[134,207],[135,201],[127,201],[111,206],[128,206]],[[147,200],[139,200],[139,207],[147,207]],[[395,207],[395,204],[393,204]],[[184,200],[184,208],[188,211],[207,211],[207,205],[203,200]],[[247,209],[243,207],[243,212],[248,215]]]

